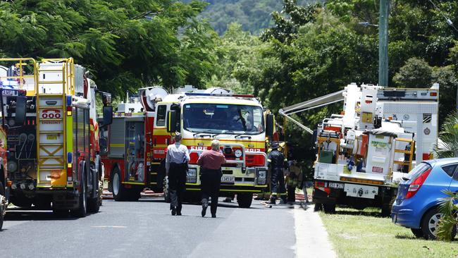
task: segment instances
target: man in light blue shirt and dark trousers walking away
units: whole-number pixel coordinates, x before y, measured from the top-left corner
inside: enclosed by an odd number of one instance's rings
[[[175,134],[175,143],[168,145],[166,170],[168,176],[168,192],[170,192],[172,215],[181,215],[182,194],[185,192],[187,162],[190,154],[187,147],[181,144],[180,133]]]

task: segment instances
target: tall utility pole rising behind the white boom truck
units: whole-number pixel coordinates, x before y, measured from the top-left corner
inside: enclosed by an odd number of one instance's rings
[[[378,16],[378,85],[388,86],[388,16],[390,0],[380,0]]]

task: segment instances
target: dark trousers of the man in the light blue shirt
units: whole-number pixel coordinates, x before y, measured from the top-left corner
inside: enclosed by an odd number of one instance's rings
[[[171,209],[181,212],[182,195],[186,185],[186,164],[171,163],[168,170],[168,191],[171,197]]]

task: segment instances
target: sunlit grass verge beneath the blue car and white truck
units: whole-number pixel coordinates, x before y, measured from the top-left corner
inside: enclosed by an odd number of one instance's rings
[[[380,218],[377,209],[337,209],[320,216],[338,257],[458,257],[457,240],[415,238],[409,228]]]

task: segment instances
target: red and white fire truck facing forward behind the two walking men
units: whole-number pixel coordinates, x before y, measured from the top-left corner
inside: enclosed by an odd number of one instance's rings
[[[165,189],[167,197],[166,150],[180,132],[191,157],[187,195],[200,190],[199,154],[218,139],[228,161],[222,168],[221,195],[237,194],[239,206],[250,207],[253,193],[266,188],[266,136],[273,135],[273,120],[252,95],[222,88],[187,85],[173,94],[161,87],[140,89],[118,105],[113,123],[101,130],[109,190],[116,200],[138,199],[144,188]]]

